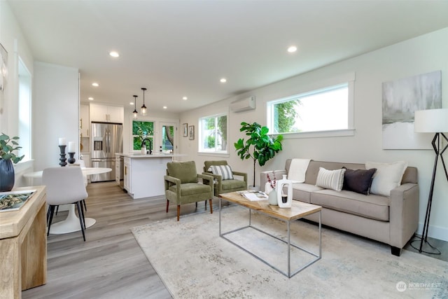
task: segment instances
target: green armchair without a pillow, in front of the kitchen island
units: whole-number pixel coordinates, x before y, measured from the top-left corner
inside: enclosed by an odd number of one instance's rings
[[[181,214],[181,204],[190,204],[210,200],[210,213],[213,214],[211,199],[214,194],[213,177],[197,174],[195,161],[168,162],[165,180],[165,196],[167,197],[167,213],[169,202],[177,205],[177,221]],[[199,183],[199,179],[207,183]],[[207,205],[206,205],[207,209]]]

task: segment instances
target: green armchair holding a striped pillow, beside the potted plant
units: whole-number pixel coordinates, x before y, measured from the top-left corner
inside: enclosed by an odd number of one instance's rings
[[[229,167],[227,169],[223,169],[222,174],[218,174],[219,172],[221,172],[221,169],[217,169],[217,172],[216,169],[212,169],[216,172],[216,174],[214,174],[211,170],[209,170],[211,166],[228,166],[228,164],[226,160],[204,162],[204,172],[202,174],[208,174],[209,176],[214,177],[215,196],[218,196],[221,193],[247,190],[246,172],[235,172]],[[232,175],[230,175],[230,173]],[[235,179],[235,177],[233,176],[242,176],[243,181]]]

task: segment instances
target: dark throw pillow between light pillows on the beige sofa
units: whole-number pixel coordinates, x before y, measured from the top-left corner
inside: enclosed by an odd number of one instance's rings
[[[364,195],[369,195],[370,186],[372,185],[373,175],[377,171],[376,168],[371,169],[348,169],[345,168],[344,185],[342,190],[349,190]]]

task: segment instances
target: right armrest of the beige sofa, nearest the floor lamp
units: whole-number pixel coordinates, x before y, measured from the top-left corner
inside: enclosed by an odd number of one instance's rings
[[[390,244],[403,248],[419,226],[419,185],[404,183],[391,190]]]

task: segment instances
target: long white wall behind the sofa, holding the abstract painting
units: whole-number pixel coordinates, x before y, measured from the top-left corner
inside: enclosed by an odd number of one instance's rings
[[[195,111],[181,114],[180,123],[188,123],[197,127],[197,120],[201,116],[227,111],[230,102],[251,95],[256,96],[257,109],[229,115],[229,146],[228,157],[197,154],[197,139],[181,138],[181,152],[187,153],[185,160],[195,160],[197,170],[202,171],[204,160],[225,158],[237,171],[248,173],[252,180],[251,160],[241,161],[235,152],[233,143],[244,137],[239,132],[241,121],[261,125],[266,124],[266,105],[272,99],[288,95],[295,95],[300,91],[312,89],[316,83],[325,81],[341,74],[356,72],[354,91],[354,123],[355,134],[351,137],[327,137],[288,139],[283,141],[283,151],[274,160],[267,162],[265,167],[257,166],[255,179],[259,182],[259,172],[267,169],[283,169],[287,158],[312,158],[314,160],[360,162],[369,161],[393,162],[406,160],[410,166],[419,169],[420,187],[420,225],[424,221],[430,177],[433,170],[433,150],[383,150],[381,127],[381,83],[398,78],[405,78],[430,71],[442,71],[442,95],[444,108],[448,107],[448,28],[419,36],[393,46],[388,46],[365,55],[353,57],[307,74],[288,78],[285,81],[267,85],[263,88],[246,92],[244,95],[224,99],[221,102],[204,106]],[[297,53],[300,55],[300,53]],[[445,155],[447,155],[445,153]],[[448,157],[447,157],[448,159]],[[432,214],[430,218],[429,235],[448,241],[448,182],[444,178],[442,165],[439,165],[435,192],[433,197]]]

